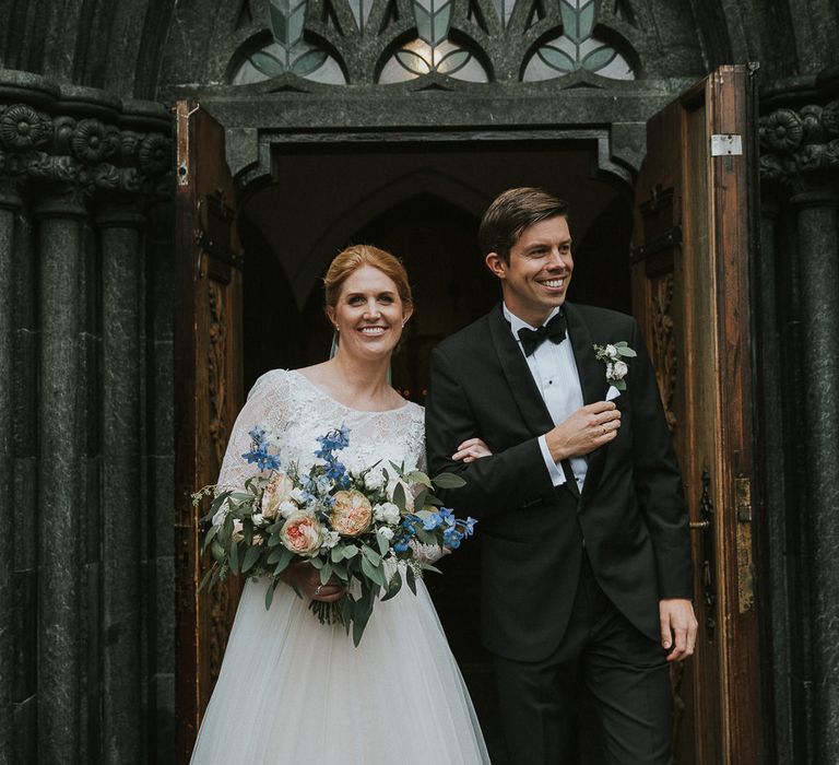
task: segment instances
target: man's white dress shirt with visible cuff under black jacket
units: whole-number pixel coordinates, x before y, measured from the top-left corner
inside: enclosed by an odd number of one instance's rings
[[[551,316],[545,319],[545,323],[556,316],[557,313],[559,313],[559,308],[554,308]],[[521,340],[519,340],[519,330],[522,327],[536,330],[537,327],[531,327],[527,321],[520,319],[510,311],[507,304],[504,304],[504,317],[509,321],[512,337],[518,343],[521,353],[524,354],[521,348]],[[571,341],[568,339],[567,331],[563,342],[554,343],[551,340],[545,340],[529,356],[524,355],[524,360],[528,362],[530,373],[533,375],[533,380],[536,384],[536,388],[539,388],[539,392],[542,395],[554,425],[564,422],[583,405],[582,387],[580,386],[577,364],[574,361],[574,349],[571,348]],[[551,474],[554,486],[565,483],[565,473],[562,467],[554,462],[553,457],[551,457],[551,450],[547,448],[544,435],[539,437],[539,447],[542,449],[542,458],[545,460],[545,467]],[[570,457],[569,462],[574,476],[577,479],[577,486],[582,491],[588,462],[583,457]]]

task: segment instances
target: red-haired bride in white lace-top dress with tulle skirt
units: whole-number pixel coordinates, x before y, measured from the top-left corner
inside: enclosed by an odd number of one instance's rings
[[[390,357],[413,304],[407,274],[370,246],[341,252],[327,272],[326,310],[340,339],[328,362],[275,369],[257,380],[227,447],[218,483],[240,486],[252,473],[241,455],[248,432],[281,434],[282,459],[307,469],[316,437],[345,425],[348,470],[377,460],[424,463],[423,409],[388,385]],[[474,459],[472,439],[458,452]],[[267,579],[248,580],[215,690],[192,753],[193,765],[475,765],[484,740],[428,592],[422,581],[377,603],[359,646],[326,626],[309,600],[332,602],[307,564],[289,567],[265,610]]]

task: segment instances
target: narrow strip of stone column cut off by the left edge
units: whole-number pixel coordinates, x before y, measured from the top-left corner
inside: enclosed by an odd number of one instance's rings
[[[2,163],[2,154],[0,154]],[[1,165],[0,165],[1,166]],[[13,183],[0,177],[0,529],[14,528],[14,302],[12,254],[21,199]],[[0,762],[13,761],[12,681],[14,676],[14,538],[0,555]]]

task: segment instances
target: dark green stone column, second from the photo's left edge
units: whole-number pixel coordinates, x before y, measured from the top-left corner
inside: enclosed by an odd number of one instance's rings
[[[40,198],[38,507],[38,762],[72,765],[81,742],[80,269],[82,221],[74,190]]]

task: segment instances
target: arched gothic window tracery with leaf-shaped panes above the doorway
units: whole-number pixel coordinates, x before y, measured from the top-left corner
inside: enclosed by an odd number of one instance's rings
[[[234,85],[638,76],[608,24],[635,22],[629,0],[245,0],[239,20],[253,34],[233,56]]]

